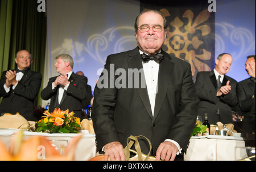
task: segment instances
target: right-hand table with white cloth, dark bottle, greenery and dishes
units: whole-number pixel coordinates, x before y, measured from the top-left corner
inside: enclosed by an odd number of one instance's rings
[[[191,134],[185,161],[255,161],[255,134],[237,133],[233,124],[221,122],[211,124],[207,133],[200,119]],[[253,146],[246,141],[252,141]]]

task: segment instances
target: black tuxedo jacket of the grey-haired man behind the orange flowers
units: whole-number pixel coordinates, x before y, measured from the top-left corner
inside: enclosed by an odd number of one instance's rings
[[[59,85],[52,89],[52,83],[56,80],[57,76],[50,78],[47,87],[41,92],[43,100],[49,100],[51,98],[49,112],[53,112],[55,108],[61,110],[69,110],[75,113],[75,117],[82,118],[82,100],[87,94],[87,78],[85,76],[77,75],[74,72],[71,74],[67,91],[64,91],[63,98],[58,106],[57,97]]]

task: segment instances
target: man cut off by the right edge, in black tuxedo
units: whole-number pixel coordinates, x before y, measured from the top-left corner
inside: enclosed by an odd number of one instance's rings
[[[250,78],[240,81],[237,84],[238,111],[243,115],[242,130],[246,133],[253,132],[250,122],[250,111],[253,104],[255,91],[255,55],[249,55],[245,63],[245,70]],[[254,124],[255,126],[255,124]]]

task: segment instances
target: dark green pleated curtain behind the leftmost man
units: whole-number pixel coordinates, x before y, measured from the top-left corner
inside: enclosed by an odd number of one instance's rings
[[[28,50],[32,54],[31,70],[44,72],[46,18],[38,12],[37,0],[1,0],[0,3],[0,72],[14,69],[15,54]],[[40,89],[40,91],[42,88]],[[42,102],[40,96],[36,105]]]

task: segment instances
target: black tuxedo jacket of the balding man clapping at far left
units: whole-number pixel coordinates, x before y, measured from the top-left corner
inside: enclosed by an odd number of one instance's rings
[[[35,121],[34,100],[41,87],[42,75],[28,68],[16,88],[13,90],[11,87],[10,92],[6,93],[3,88],[6,72],[2,73],[0,80],[0,97],[3,97],[0,113],[16,114],[18,112],[28,121]]]

